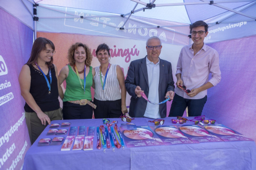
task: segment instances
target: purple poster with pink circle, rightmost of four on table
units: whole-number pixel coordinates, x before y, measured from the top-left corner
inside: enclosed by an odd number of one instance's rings
[[[201,126],[201,125],[200,125]],[[208,124],[202,126],[206,129],[210,134],[219,137],[225,142],[230,141],[253,141],[249,137],[242,135],[241,133],[230,129],[229,127],[224,126],[223,124]]]

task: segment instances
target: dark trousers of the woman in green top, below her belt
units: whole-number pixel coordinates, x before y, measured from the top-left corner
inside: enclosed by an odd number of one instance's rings
[[[63,119],[92,119],[93,108],[90,105],[63,102],[62,113]]]

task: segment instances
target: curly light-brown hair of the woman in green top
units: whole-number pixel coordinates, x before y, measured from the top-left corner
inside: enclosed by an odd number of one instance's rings
[[[72,46],[69,47],[69,51],[67,52],[67,60],[69,60],[69,65],[74,66],[74,63],[75,63],[74,54],[75,54],[75,50],[78,47],[83,47],[85,49],[85,53],[86,53],[85,65],[90,66],[92,63],[92,53],[90,52],[89,47],[86,44],[83,44],[82,42],[77,42],[75,44],[72,44]]]

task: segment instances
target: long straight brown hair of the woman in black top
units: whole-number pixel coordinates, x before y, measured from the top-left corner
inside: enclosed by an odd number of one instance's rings
[[[36,38],[33,46],[32,46],[32,51],[30,54],[30,58],[28,59],[28,64],[35,64],[36,60],[38,59],[38,55],[40,54],[41,51],[46,50],[46,44],[49,44],[53,51],[55,51],[55,46],[51,40],[43,37],[38,37]],[[48,67],[53,68],[53,57],[51,57],[51,61],[46,62]]]

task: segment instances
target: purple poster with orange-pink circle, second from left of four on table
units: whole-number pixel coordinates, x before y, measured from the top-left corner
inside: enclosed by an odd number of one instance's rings
[[[155,132],[159,136],[159,138],[164,142],[164,145],[198,143],[189,140],[174,126],[155,126]]]

